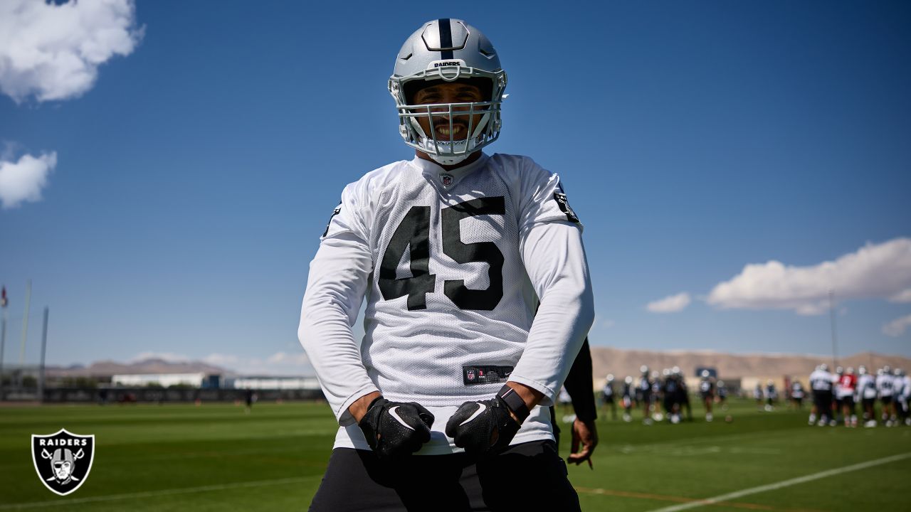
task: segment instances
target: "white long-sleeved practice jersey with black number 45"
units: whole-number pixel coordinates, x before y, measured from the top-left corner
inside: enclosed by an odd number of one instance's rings
[[[461,451],[447,419],[507,377],[553,404],[594,316],[581,230],[558,176],[525,157],[482,155],[451,171],[415,158],[345,187],[299,329],[342,425],[335,446],[369,449],[348,407],[374,391],[435,415],[422,455]],[[539,405],[513,443],[548,438]]]

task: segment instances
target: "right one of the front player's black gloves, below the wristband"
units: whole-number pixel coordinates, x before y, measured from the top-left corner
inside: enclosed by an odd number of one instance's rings
[[[446,422],[446,435],[467,454],[482,456],[505,449],[520,426],[509,415],[506,402],[497,396],[460,405]]]

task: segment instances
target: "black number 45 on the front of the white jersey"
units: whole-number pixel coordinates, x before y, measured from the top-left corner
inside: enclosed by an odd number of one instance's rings
[[[503,252],[492,241],[465,243],[462,241],[461,220],[476,215],[506,213],[502,197],[481,198],[460,202],[441,212],[443,252],[458,263],[485,262],[488,265],[486,290],[466,288],[461,279],[446,280],[444,293],[463,310],[490,311],[503,298]],[[380,292],[386,301],[408,296],[408,311],[427,307],[426,294],[433,292],[436,275],[430,273],[430,207],[413,206],[395,228],[392,240],[380,263]],[[412,277],[396,279],[395,269],[402,261],[405,249],[410,249]]]

